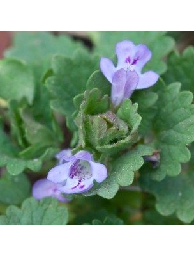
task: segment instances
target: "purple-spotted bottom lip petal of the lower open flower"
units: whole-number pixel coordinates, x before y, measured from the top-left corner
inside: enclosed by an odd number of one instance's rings
[[[90,179],[82,180],[81,182],[78,179],[67,179],[65,186],[58,188],[59,191],[65,194],[74,194],[85,192],[93,186],[93,177]]]

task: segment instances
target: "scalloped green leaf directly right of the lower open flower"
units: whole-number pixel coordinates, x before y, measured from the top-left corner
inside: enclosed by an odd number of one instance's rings
[[[94,184],[93,188],[83,193],[83,195],[113,198],[119,190],[119,186],[130,186],[132,184],[134,172],[144,164],[142,156],[151,154],[153,154],[153,148],[142,145],[112,161],[112,171],[107,179],[99,184]]]

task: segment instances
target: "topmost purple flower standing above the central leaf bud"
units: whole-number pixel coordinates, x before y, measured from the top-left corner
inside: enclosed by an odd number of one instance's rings
[[[101,72],[112,83],[111,98],[114,106],[130,98],[134,90],[153,86],[159,77],[153,71],[141,74],[142,68],[152,55],[146,45],[134,45],[131,41],[122,41],[116,45],[116,55],[117,67],[108,58],[100,60]]]

